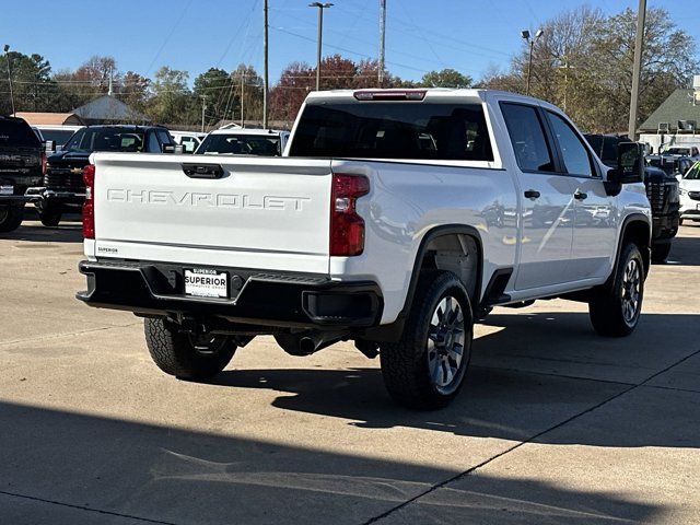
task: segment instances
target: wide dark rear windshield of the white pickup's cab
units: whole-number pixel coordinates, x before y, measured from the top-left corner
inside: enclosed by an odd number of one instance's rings
[[[308,104],[290,156],[492,161],[479,104]]]

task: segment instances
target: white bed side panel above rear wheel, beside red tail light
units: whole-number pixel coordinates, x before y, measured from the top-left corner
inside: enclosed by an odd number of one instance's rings
[[[336,160],[332,171],[366,175],[372,189],[358,200],[366,223],[364,253],[331,257],[330,276],[381,283],[382,323],[395,320],[404,307],[421,241],[433,229],[468,224],[479,233],[482,290],[497,268],[514,266],[517,201],[505,170]]]

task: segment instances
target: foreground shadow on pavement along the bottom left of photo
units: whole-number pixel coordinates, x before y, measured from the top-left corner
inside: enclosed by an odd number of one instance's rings
[[[80,514],[85,520],[108,512],[175,524],[360,524],[458,474],[7,402],[0,418],[3,523],[36,523],[33,511],[50,501],[55,516],[55,503],[90,509]],[[537,479],[475,475],[460,487],[420,500],[421,512],[434,506],[459,523],[597,524],[651,521],[665,511],[621,492],[584,493]],[[32,503],[27,498],[44,502],[18,505]]]

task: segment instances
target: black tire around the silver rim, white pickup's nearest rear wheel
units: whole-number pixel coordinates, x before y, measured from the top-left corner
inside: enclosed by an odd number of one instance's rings
[[[434,368],[439,361],[433,359],[439,359],[438,355],[431,359],[438,348],[433,322],[438,318],[440,305],[447,298],[456,300],[462,312],[462,359],[455,369],[452,383],[440,386],[438,382],[447,375],[443,376],[442,372],[439,372],[441,377],[438,380],[434,375],[436,370],[442,369]],[[464,384],[471,358],[472,336],[474,317],[469,295],[457,276],[450,271],[421,272],[400,340],[396,343],[383,343],[380,348],[382,376],[392,398],[399,405],[419,410],[447,406]],[[456,340],[453,335],[447,337],[451,341]],[[432,343],[429,338],[432,338]]]

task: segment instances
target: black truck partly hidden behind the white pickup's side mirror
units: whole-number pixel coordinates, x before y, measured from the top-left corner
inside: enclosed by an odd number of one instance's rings
[[[585,138],[598,158],[610,167],[616,167],[618,144],[629,142],[627,137],[612,135],[586,135]],[[648,163],[644,168],[644,186],[652,206],[652,260],[663,262],[670,252],[672,240],[678,233],[680,219],[678,180],[673,173]]]

